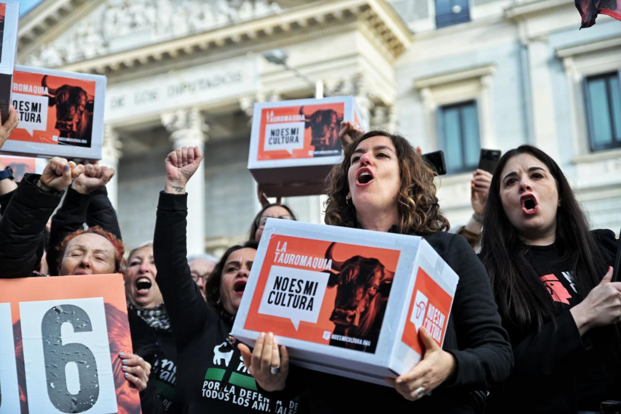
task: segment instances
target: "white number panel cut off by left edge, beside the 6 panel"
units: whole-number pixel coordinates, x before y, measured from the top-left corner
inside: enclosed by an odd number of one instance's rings
[[[20,410],[11,304],[0,303],[0,414]]]

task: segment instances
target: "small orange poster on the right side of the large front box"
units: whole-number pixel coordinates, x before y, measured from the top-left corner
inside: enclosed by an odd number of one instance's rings
[[[418,333],[419,328],[425,328],[433,340],[442,346],[452,302],[451,295],[419,267],[401,341],[422,354],[425,350],[420,344]]]

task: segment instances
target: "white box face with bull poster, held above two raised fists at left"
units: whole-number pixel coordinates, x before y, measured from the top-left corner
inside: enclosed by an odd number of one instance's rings
[[[16,66],[19,125],[2,152],[101,159],[105,92],[105,76]]]

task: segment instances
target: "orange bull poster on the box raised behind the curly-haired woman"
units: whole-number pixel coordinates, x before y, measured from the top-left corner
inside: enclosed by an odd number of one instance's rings
[[[344,103],[261,109],[257,160],[330,157],[342,152]]]

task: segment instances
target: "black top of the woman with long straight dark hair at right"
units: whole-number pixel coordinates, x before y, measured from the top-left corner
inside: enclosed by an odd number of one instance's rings
[[[606,264],[612,265],[618,243],[614,232],[595,230],[593,234]],[[599,412],[602,401],[621,400],[621,362],[611,345],[612,327],[580,336],[569,310],[588,292],[576,290],[571,264],[562,259],[557,244],[530,246],[530,258],[542,288],[555,302],[556,317],[540,331],[525,331],[505,322],[515,368],[501,389],[490,394],[489,412]]]

